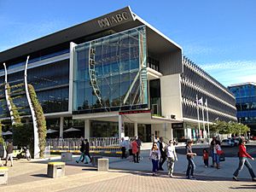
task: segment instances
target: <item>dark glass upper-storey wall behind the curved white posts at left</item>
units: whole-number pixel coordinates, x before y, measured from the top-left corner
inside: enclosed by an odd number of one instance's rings
[[[25,67],[25,63],[24,67]],[[28,64],[28,67],[30,64]],[[12,66],[10,66],[12,68]],[[7,71],[10,69],[7,68]],[[0,78],[4,87],[4,76]],[[24,87],[24,71],[8,74],[8,82],[11,87],[11,97],[20,115],[30,114]],[[40,67],[27,70],[27,83],[32,84],[36,90],[38,101],[41,103],[44,113],[56,113],[68,111],[68,82],[69,60],[55,61]],[[5,101],[4,89],[1,87],[1,117],[9,117],[9,110]]]

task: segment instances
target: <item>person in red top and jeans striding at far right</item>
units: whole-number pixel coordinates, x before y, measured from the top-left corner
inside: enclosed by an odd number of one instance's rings
[[[250,154],[247,154],[247,148],[245,146],[245,143],[246,143],[246,140],[244,140],[244,139],[241,139],[239,141],[239,152],[238,152],[239,166],[236,169],[236,172],[234,172],[234,174],[233,174],[233,179],[235,181],[238,181],[238,179],[237,179],[238,174],[239,174],[239,172],[241,172],[243,166],[245,165],[245,166],[247,166],[247,169],[250,172],[253,181],[256,181],[256,177],[255,177],[255,174],[253,172],[253,167],[251,166],[251,164],[248,160],[248,158],[251,159],[251,160],[254,160],[254,158]]]

